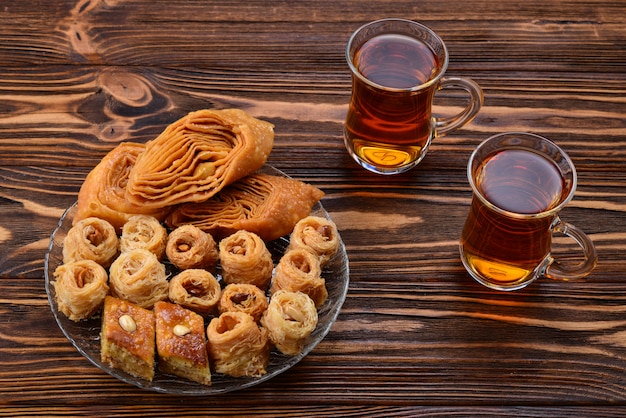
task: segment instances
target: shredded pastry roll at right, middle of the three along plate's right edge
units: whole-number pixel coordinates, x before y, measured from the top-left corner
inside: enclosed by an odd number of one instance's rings
[[[288,250],[276,265],[271,293],[279,290],[302,292],[320,307],[328,298],[326,281],[321,274],[319,259],[311,251],[303,248]]]

